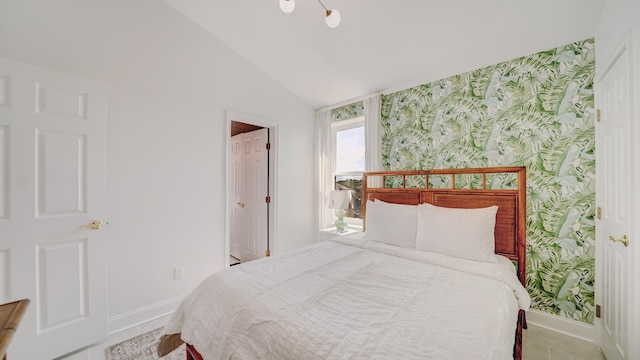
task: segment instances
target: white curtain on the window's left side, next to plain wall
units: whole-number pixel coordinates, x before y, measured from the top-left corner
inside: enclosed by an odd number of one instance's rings
[[[333,168],[335,155],[333,154],[333,138],[331,135],[331,109],[320,110],[316,113],[316,199],[317,226],[325,229],[331,226],[333,213],[329,209],[329,194],[333,190]]]

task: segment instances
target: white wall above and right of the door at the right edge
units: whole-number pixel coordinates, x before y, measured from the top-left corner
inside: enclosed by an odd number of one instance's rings
[[[629,43],[632,49],[631,52],[631,95],[632,95],[632,141],[631,141],[631,161],[634,164],[631,169],[631,178],[640,178],[640,152],[639,149],[634,146],[638,146],[638,140],[640,140],[640,124],[638,123],[638,117],[640,116],[640,2],[638,0],[607,0],[600,19],[600,24],[596,31],[596,79],[600,78],[606,69],[606,65],[610,64],[613,60],[613,56],[616,55],[616,51],[625,37],[629,36]],[[635,140],[635,141],[634,141]],[[632,180],[632,183],[637,184],[637,180]],[[638,219],[640,212],[640,191],[634,188],[634,194],[631,208],[631,219]],[[630,296],[631,303],[629,304],[630,316],[628,319],[629,330],[629,354],[627,359],[638,359],[640,357],[640,342],[633,341],[638,339],[640,335],[640,284],[638,279],[640,278],[640,223],[634,222],[634,228],[630,229],[629,238],[630,245],[630,269],[629,269],[629,282],[635,284],[631,287],[635,293]],[[605,315],[606,316],[606,315]]]

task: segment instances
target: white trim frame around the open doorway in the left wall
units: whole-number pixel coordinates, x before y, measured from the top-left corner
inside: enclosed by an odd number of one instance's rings
[[[231,199],[229,191],[231,190],[231,122],[238,121],[245,124],[262,126],[269,129],[269,142],[274,144],[269,151],[269,196],[271,203],[269,208],[269,250],[271,255],[277,253],[277,217],[278,217],[278,196],[276,189],[278,188],[278,124],[273,121],[265,120],[256,116],[242,114],[227,110],[227,123],[225,132],[225,223],[224,223],[224,264],[225,268],[230,266],[229,258],[231,256]]]

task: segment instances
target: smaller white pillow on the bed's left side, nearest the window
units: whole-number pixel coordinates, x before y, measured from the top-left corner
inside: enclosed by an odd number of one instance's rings
[[[413,249],[416,245],[418,207],[367,200],[364,238]]]

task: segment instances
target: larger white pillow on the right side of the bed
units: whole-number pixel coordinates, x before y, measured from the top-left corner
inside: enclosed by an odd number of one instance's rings
[[[497,206],[457,209],[420,204],[416,249],[495,264],[497,212]]]

